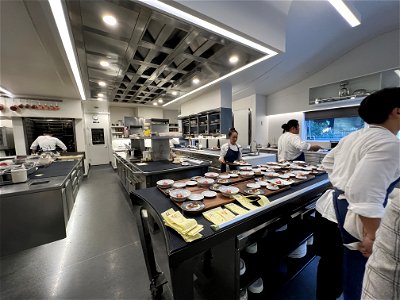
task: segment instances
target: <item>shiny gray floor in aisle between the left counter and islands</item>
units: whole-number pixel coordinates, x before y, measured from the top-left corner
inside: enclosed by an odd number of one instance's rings
[[[278,299],[314,299],[315,272],[316,261]],[[0,298],[151,299],[128,195],[111,167],[90,169],[67,238],[0,259]]]

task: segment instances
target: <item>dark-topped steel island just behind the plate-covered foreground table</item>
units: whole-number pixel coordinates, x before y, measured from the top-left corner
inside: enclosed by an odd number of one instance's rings
[[[182,166],[167,160],[138,162],[125,152],[114,152],[117,173],[128,193],[142,188],[156,186],[157,181],[165,178],[177,180],[202,175],[208,171],[208,161],[192,161]]]

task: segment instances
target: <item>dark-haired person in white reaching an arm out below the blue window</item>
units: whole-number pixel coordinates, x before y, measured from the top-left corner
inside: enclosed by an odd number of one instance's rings
[[[304,151],[318,151],[318,145],[311,145],[301,140],[299,136],[300,124],[297,120],[290,120],[282,125],[283,134],[278,140],[278,160],[305,161]]]

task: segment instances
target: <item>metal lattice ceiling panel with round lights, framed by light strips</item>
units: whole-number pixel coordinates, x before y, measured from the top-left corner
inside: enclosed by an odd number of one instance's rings
[[[83,41],[76,42],[84,46],[79,53],[86,54],[87,65],[81,67],[87,68],[88,81],[96,83],[89,85],[92,95],[98,93],[99,81],[107,82],[109,101],[152,105],[161,96],[168,105],[266,56],[135,1],[96,1],[96,7],[90,1],[76,2],[66,0],[69,15],[82,15],[71,19],[83,33]],[[106,26],[106,12],[116,17],[118,26]],[[232,53],[240,57],[237,63],[229,62]],[[101,66],[100,61],[110,65]],[[201,81],[194,84],[194,78]]]

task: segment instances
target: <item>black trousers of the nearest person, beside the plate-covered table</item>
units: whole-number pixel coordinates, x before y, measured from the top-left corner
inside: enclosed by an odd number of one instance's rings
[[[314,245],[320,256],[317,300],[340,297],[343,292],[343,242],[338,225],[315,213]]]

